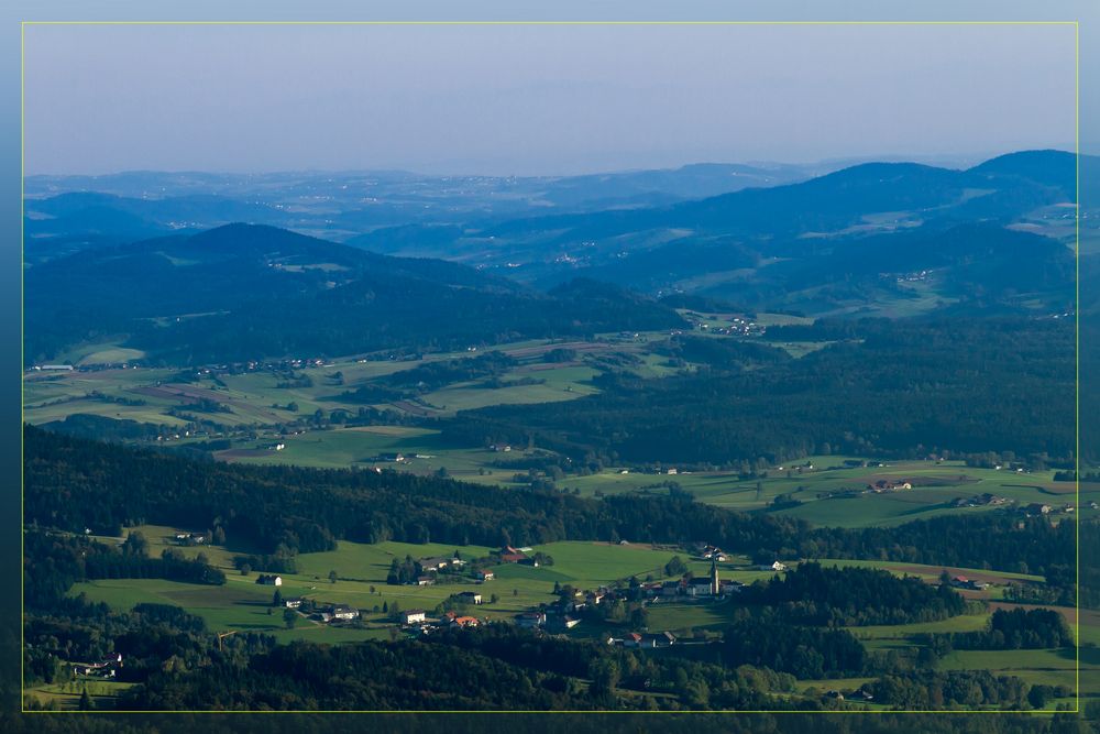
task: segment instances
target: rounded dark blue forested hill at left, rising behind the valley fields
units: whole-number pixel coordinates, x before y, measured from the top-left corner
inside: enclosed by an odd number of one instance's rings
[[[682,325],[616,286],[548,295],[455,263],[245,224],[87,250],[32,267],[25,282],[31,362],[97,339],[184,364]]]

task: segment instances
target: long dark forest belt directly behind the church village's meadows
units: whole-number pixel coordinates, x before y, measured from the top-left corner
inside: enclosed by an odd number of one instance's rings
[[[685,543],[782,558],[887,558],[1033,573],[1074,560],[1074,525],[989,512],[894,528],[811,528],[747,515],[682,492],[584,499],[406,473],[241,467],[196,462],[24,428],[25,522],[118,535],[128,524],[221,527],[230,547],[328,550],[338,539],[374,543],[536,545],[554,540]]]

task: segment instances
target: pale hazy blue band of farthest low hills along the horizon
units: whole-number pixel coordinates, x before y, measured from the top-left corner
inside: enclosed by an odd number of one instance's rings
[[[427,176],[408,172],[28,176],[28,261],[232,222],[328,240],[411,222],[453,224],[547,210],[639,208],[801,180],[827,166],[693,164],[582,176]],[[382,251],[385,248],[377,248]]]

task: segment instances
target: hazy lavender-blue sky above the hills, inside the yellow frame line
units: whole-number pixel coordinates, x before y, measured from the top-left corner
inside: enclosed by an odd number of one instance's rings
[[[1065,25],[32,25],[26,173],[1072,150],[1074,61]]]

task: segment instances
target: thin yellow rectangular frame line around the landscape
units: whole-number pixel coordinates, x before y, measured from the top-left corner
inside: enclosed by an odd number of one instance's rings
[[[22,304],[24,295],[24,227],[25,227],[25,161],[26,161],[26,26],[28,25],[1072,25],[1074,26],[1074,157],[1076,161],[1075,171],[1075,503],[1077,512],[1074,513],[1074,526],[1076,534],[1076,605],[1077,612],[1075,622],[1075,651],[1076,651],[1076,690],[1075,708],[1069,711],[1057,711],[1050,709],[1033,711],[1003,711],[994,709],[966,709],[966,710],[856,710],[856,711],[785,711],[785,710],[718,710],[718,711],[619,711],[619,710],[596,710],[596,711],[513,711],[513,710],[446,710],[446,711],[421,711],[398,710],[398,711],[343,711],[343,710],[302,710],[302,711],[134,711],[134,710],[112,710],[112,711],[31,711],[23,703],[22,695],[26,690],[26,679],[24,672],[23,650],[26,649],[25,625],[22,622],[24,609],[24,529],[22,519],[25,517],[23,500],[23,461],[20,461],[20,709],[22,713],[48,713],[48,714],[221,714],[221,713],[275,713],[275,714],[307,714],[307,713],[378,713],[378,714],[1015,714],[1015,715],[1052,715],[1055,713],[1081,713],[1081,526],[1080,526],[1080,504],[1081,504],[1081,134],[1080,134],[1080,112],[1081,112],[1081,46],[1080,46],[1080,22],[1072,21],[21,21],[20,22],[20,369],[25,364],[24,353],[24,325],[22,318]],[[23,446],[23,403],[25,384],[20,376],[20,456],[24,454]]]

